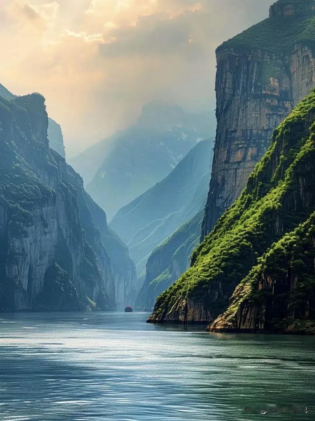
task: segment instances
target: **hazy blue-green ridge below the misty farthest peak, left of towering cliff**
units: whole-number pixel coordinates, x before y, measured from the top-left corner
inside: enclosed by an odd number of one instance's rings
[[[126,242],[138,276],[154,248],[204,208],[213,141],[204,140],[174,170],[124,206],[109,224]]]

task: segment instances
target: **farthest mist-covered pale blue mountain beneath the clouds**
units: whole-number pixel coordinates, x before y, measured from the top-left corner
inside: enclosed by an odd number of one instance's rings
[[[85,175],[87,192],[110,220],[164,179],[200,140],[209,138],[210,123],[210,114],[188,114],[176,105],[153,101],[143,107],[137,124],[116,133],[109,144],[103,141],[89,148],[71,163]]]

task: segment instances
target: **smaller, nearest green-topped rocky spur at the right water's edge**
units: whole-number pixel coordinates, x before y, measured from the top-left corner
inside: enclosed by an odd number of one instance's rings
[[[315,333],[315,321],[307,320],[315,316],[314,243],[315,213],[312,213],[258,259],[258,264],[236,288],[228,310],[210,329]],[[247,326],[249,313],[252,320]]]

